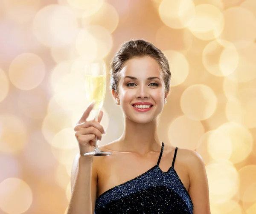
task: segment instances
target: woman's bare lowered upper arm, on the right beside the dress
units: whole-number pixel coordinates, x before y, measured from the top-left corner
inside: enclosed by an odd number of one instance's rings
[[[209,185],[204,161],[198,152],[189,155],[189,195],[194,205],[193,214],[210,214]]]

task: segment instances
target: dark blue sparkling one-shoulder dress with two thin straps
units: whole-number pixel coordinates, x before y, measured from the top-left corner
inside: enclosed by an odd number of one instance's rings
[[[174,168],[178,148],[166,172],[159,167],[163,148],[162,142],[157,165],[102,193],[94,214],[192,214],[192,200]]]

